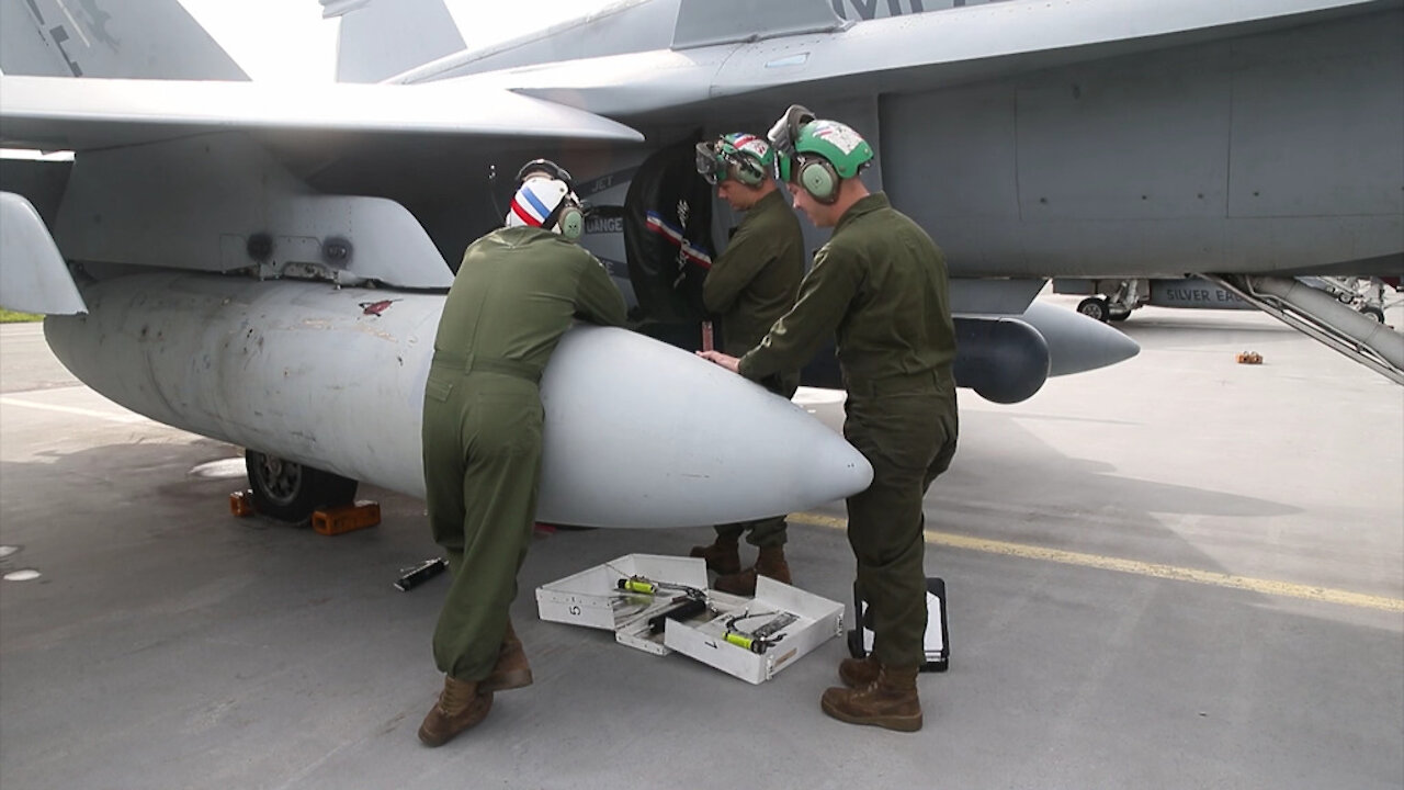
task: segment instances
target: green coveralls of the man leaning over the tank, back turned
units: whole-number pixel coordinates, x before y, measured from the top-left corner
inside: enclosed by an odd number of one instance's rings
[[[434,661],[486,678],[517,597],[541,488],[538,382],[576,316],[619,326],[625,304],[604,266],[539,228],[473,242],[453,278],[424,388],[424,488],[453,581]]]

